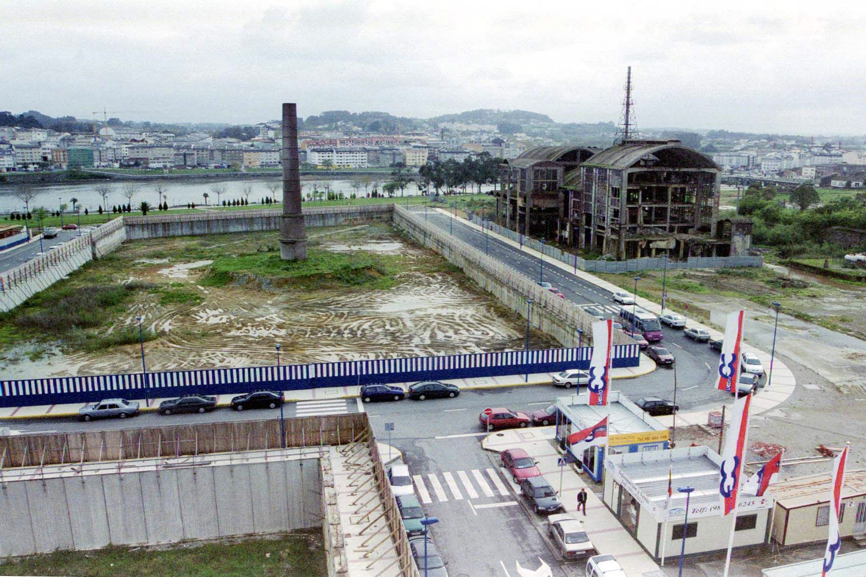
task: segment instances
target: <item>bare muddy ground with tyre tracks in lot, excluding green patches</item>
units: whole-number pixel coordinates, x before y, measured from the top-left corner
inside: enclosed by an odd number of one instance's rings
[[[387,260],[387,289],[268,282],[236,275],[224,286],[203,283],[213,260],[274,247],[277,233],[227,234],[127,242],[105,263],[75,272],[74,282],[144,283],[123,314],[102,330],[136,327],[157,334],[145,343],[148,370],[240,367],[276,362],[449,355],[525,346],[525,323],[442,257],[412,244],[391,225],[311,228],[310,247]],[[271,248],[273,250],[273,248]],[[165,292],[184,302],[165,303]],[[532,346],[555,346],[533,332]],[[41,348],[34,355],[33,349]],[[0,370],[11,378],[90,375],[141,369],[138,343],[87,351],[62,342],[7,348]]]

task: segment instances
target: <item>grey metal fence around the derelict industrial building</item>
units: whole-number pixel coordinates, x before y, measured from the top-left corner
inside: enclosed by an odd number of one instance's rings
[[[665,259],[663,257],[646,257],[643,259],[630,260],[585,260],[577,254],[565,253],[557,247],[550,247],[540,240],[535,240],[525,234],[515,233],[505,227],[501,227],[492,221],[481,219],[474,213],[467,213],[469,221],[476,224],[481,223],[481,226],[493,231],[496,234],[514,240],[520,244],[532,248],[540,253],[545,253],[547,256],[559,260],[568,266],[573,266],[575,271],[581,270],[586,272],[633,272],[633,271],[648,271],[664,268]],[[670,260],[668,259],[668,268],[730,268],[734,266],[762,266],[764,257],[761,256],[713,256],[713,257],[689,257],[688,260]]]

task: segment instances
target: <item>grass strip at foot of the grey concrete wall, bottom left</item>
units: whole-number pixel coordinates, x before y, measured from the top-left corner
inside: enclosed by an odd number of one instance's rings
[[[299,531],[275,539],[185,543],[166,549],[109,547],[57,551],[0,563],[2,575],[102,577],[324,577],[321,531]]]

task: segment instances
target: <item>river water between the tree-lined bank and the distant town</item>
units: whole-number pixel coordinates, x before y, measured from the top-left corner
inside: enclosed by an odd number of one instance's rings
[[[383,175],[382,178],[378,180],[380,193],[382,192],[382,183],[387,181],[388,175]],[[39,187],[36,189],[38,195],[34,200],[30,201],[30,209],[32,210],[33,208],[42,206],[49,211],[52,211],[56,210],[63,203],[68,204],[68,208],[72,208],[72,202],[70,199],[77,198],[77,203],[80,204],[81,207],[94,212],[102,203],[102,197],[96,192],[94,187],[97,184],[104,182],[105,181],[86,184],[54,184]],[[280,182],[281,177],[279,175],[262,178],[227,178],[225,180],[216,180],[211,178],[197,180],[172,180],[171,178],[168,178],[163,181],[136,181],[135,183],[139,185],[139,189],[132,196],[131,204],[133,208],[142,201],[150,202],[152,205],[158,204],[159,196],[155,189],[158,183],[162,183],[167,189],[165,197],[168,199],[170,206],[185,206],[189,202],[195,202],[197,205],[202,205],[204,204],[204,193],[209,195],[209,198],[207,199],[209,205],[216,204],[216,195],[211,190],[211,187],[217,183],[223,184],[226,187],[226,193],[221,196],[221,200],[229,201],[232,199],[243,198],[242,187],[245,185],[252,185],[253,191],[249,195],[249,203],[254,204],[261,202],[262,197],[264,196],[272,196],[271,191],[267,188],[268,184]],[[329,189],[334,192],[342,192],[346,198],[356,192],[356,190],[352,188],[352,181],[349,179],[326,180],[311,177],[310,179],[301,179],[301,194],[304,198],[312,195],[313,184],[315,184],[319,190],[324,190],[326,187],[329,187]],[[113,194],[107,197],[107,206],[109,209],[111,209],[115,204],[126,204],[126,196],[123,194],[122,186],[123,183],[113,183]],[[491,189],[493,189],[493,186],[485,185],[482,190],[487,192]],[[13,195],[14,191],[15,190],[12,188],[0,189],[0,213],[7,214],[13,211],[23,211],[23,202],[19,201]],[[369,186],[366,190],[364,186],[361,186],[357,190],[359,197],[370,196],[371,193],[372,186]],[[419,191],[415,183],[409,183],[406,189],[404,189],[403,194],[405,196],[417,196]],[[278,190],[276,194],[278,199],[280,195],[281,192]],[[396,197],[399,196],[400,192],[397,190]]]

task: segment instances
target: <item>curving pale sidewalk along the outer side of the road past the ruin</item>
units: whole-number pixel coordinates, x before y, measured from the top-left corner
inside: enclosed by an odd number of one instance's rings
[[[436,210],[439,210],[440,212],[442,212],[445,215],[449,215],[449,213],[447,211],[443,210],[443,208],[436,208]],[[457,216],[456,220],[461,221],[466,226],[475,228],[476,230],[483,230],[483,228],[481,228],[481,226],[475,224],[475,222],[468,221],[468,220],[466,220],[460,216]],[[562,262],[561,260],[557,260],[551,256],[546,255],[546,254],[539,253],[538,251],[535,251],[532,248],[527,247],[526,245],[524,245],[523,247],[520,247],[520,243],[515,242],[514,240],[511,240],[511,239],[507,239],[506,237],[501,236],[500,234],[496,234],[491,230],[488,230],[487,234],[491,234],[492,236],[496,237],[497,240],[501,240],[501,242],[504,242],[504,243],[510,245],[511,247],[519,248],[520,250],[522,250],[525,253],[532,254],[533,258],[544,259],[544,261],[546,263],[553,265],[553,266],[557,266],[557,267],[559,267],[559,269],[561,269],[565,272],[569,272],[572,275],[578,277],[578,279],[585,280],[586,282],[591,283],[593,285],[596,285],[599,288],[604,289],[605,291],[614,292],[614,291],[622,291],[623,290],[621,287],[619,287],[617,285],[609,283],[606,280],[599,279],[598,277],[592,275],[590,272],[581,271],[579,268],[575,272],[575,269],[573,266],[568,266],[564,262]],[[655,313],[656,315],[662,314],[662,305],[657,305],[656,303],[654,303],[653,301],[651,301],[647,298],[638,297],[637,298],[637,305],[646,311],[650,311],[652,313]],[[682,317],[685,317],[685,315],[682,315]],[[695,321],[694,319],[691,319],[688,317],[686,317],[686,320],[688,321],[688,326],[690,326],[690,327],[696,327],[699,329],[708,330],[710,337],[712,337],[712,338],[724,337],[724,333],[721,333],[718,330],[715,330],[714,327],[712,327],[712,326],[708,326],[706,324],[701,324],[701,323]],[[770,369],[770,353],[769,353],[769,351],[756,349],[755,347],[753,347],[752,345],[750,345],[748,343],[742,343],[741,349],[747,353],[750,353],[754,356],[757,356],[760,359],[761,364],[764,365],[764,369],[767,372],[769,372],[769,369]],[[642,356],[642,358],[643,358],[643,356]],[[758,389],[759,392],[757,394],[755,394],[752,398],[752,407],[750,409],[750,412],[752,414],[759,414],[759,413],[764,413],[766,411],[769,411],[770,409],[778,406],[780,403],[786,401],[787,398],[790,397],[791,394],[794,392],[794,388],[796,388],[796,387],[797,387],[797,379],[794,377],[794,374],[791,372],[791,369],[788,369],[787,366],[785,366],[785,363],[780,361],[779,357],[777,356],[775,359],[773,359],[773,363],[772,363],[772,385],[771,385],[771,388],[764,387],[764,388]],[[734,397],[733,396],[731,397],[731,404],[732,405],[734,404]],[[721,410],[721,407],[719,407],[719,409],[713,409],[713,410]],[[709,410],[701,410],[701,411],[694,411],[691,413],[677,414],[676,415],[676,424],[678,426],[699,425],[699,424],[706,425],[708,418],[709,418],[709,413],[710,413]],[[674,423],[673,417],[671,417],[671,416],[657,417],[657,419],[660,420],[663,424],[668,425],[668,426],[671,426]]]

